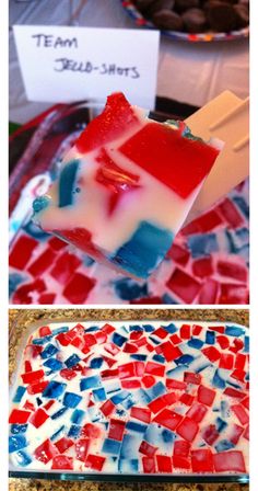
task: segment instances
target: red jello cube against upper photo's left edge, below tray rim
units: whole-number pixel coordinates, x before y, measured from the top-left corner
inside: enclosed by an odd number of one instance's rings
[[[11,250],[9,256],[10,266],[23,271],[27,262],[32,258],[32,253],[36,247],[37,241],[32,237],[27,236],[20,237]]]

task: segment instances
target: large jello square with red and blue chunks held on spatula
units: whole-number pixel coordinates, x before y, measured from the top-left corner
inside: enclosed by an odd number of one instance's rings
[[[48,194],[35,199],[34,220],[93,259],[146,278],[171,249],[219,147],[183,122],[149,119],[114,93]]]

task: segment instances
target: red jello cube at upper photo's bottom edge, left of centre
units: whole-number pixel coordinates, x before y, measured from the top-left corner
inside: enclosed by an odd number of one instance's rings
[[[64,287],[62,295],[71,304],[83,304],[90,295],[96,281],[81,273],[75,273]]]

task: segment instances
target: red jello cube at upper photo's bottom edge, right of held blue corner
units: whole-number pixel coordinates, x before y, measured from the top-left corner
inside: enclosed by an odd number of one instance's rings
[[[166,282],[166,286],[186,304],[191,304],[200,290],[201,284],[188,273],[176,267]]]

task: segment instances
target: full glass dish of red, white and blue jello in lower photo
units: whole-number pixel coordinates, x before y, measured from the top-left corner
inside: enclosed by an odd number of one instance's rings
[[[19,353],[11,476],[248,481],[246,327],[44,322]]]

